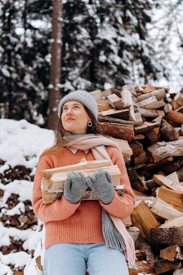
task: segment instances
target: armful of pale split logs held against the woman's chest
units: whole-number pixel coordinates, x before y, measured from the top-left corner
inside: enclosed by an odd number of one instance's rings
[[[61,199],[63,196],[64,182],[67,178],[69,171],[81,171],[85,177],[94,173],[96,168],[103,167],[105,171],[108,171],[112,177],[114,190],[116,190],[119,196],[123,196],[125,193],[124,185],[120,185],[120,170],[117,165],[113,165],[108,160],[94,160],[86,161],[82,159],[80,163],[75,165],[63,166],[53,169],[47,169],[43,171],[43,179],[41,182],[41,190],[43,195],[43,203],[52,203],[57,199]],[[87,188],[81,200],[97,200],[98,197],[91,190]]]

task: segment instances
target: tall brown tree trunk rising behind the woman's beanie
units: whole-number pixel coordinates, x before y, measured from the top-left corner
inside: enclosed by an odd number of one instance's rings
[[[47,128],[53,129],[57,124],[57,106],[62,94],[60,91],[61,81],[61,56],[62,56],[62,21],[63,4],[62,1],[52,0],[52,48],[50,65],[50,84],[48,102]]]

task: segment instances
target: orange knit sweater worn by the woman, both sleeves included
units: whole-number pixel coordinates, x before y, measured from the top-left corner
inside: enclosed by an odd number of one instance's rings
[[[114,147],[106,146],[106,150],[112,163],[119,167],[120,184],[125,186],[124,197],[118,196],[115,191],[114,199],[108,205],[103,204],[101,200],[86,200],[71,204],[64,196],[52,204],[43,204],[41,193],[43,170],[76,164],[83,156],[87,161],[95,159],[91,150],[86,155],[83,150],[78,150],[74,155],[67,148],[58,151],[57,154],[51,153],[40,158],[35,172],[32,206],[35,215],[45,225],[45,249],[54,243],[105,242],[102,235],[101,207],[121,219],[126,218],[132,212],[135,196],[124,160]]]

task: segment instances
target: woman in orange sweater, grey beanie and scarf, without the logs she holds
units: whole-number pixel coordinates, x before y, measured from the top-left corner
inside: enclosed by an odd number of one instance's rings
[[[55,145],[43,152],[36,168],[32,205],[46,229],[44,275],[85,275],[86,271],[126,275],[126,260],[135,261],[134,243],[122,222],[132,212],[135,197],[120,149],[101,135],[97,113],[97,104],[87,91],[63,97]],[[124,197],[117,195],[111,176],[100,168],[87,178],[81,172],[69,172],[63,197],[43,204],[43,170],[77,164],[83,156],[87,161],[108,159],[117,165]],[[80,200],[88,186],[99,200]]]

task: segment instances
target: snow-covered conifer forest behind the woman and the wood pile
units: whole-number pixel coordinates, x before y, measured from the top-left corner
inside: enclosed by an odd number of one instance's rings
[[[0,118],[53,129],[65,93],[183,83],[182,0],[0,0]]]

